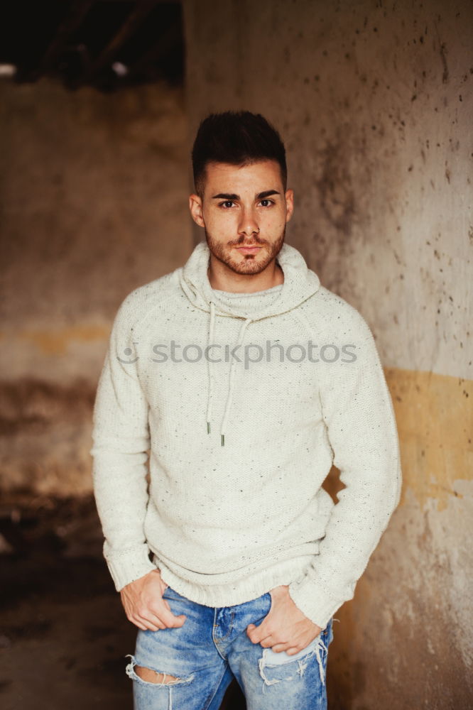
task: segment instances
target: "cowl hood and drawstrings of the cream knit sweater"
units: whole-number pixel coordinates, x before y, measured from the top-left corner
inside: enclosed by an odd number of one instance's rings
[[[248,302],[249,300],[251,301],[251,299],[245,297],[239,299],[238,297],[234,297],[234,294],[232,294],[232,297],[225,298],[224,295],[216,293],[215,290],[212,289],[207,275],[207,269],[210,264],[210,249],[204,241],[195,246],[194,251],[192,251],[192,254],[180,272],[180,286],[193,306],[209,313],[207,345],[213,342],[216,315],[241,320],[241,327],[239,329],[237,342],[235,343],[235,346],[238,346],[243,344],[244,335],[250,323],[293,310],[310,298],[310,296],[316,293],[320,288],[320,280],[317,274],[308,268],[300,251],[293,246],[283,244],[276,261],[279,266],[281,266],[284,274],[284,282],[281,286],[281,291],[271,303],[255,309],[254,304]],[[242,294],[242,296],[243,295],[244,294]],[[227,422],[232,407],[236,363],[237,361],[233,359],[230,366],[227,403],[220,426],[222,446],[224,446],[225,443]],[[207,358],[207,372],[207,434],[210,434],[212,398],[214,393],[214,377],[210,358]]]

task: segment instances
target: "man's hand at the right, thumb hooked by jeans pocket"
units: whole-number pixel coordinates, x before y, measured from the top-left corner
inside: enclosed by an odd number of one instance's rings
[[[304,616],[290,599],[288,586],[271,589],[271,610],[259,626],[249,624],[246,633],[251,643],[261,643],[276,653],[286,651],[294,655],[303,650],[322,629]]]

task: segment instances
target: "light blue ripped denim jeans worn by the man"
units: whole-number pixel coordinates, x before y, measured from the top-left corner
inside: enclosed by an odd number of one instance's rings
[[[332,619],[307,648],[290,656],[253,644],[246,635],[271,608],[271,595],[237,606],[212,608],[185,599],[168,587],[163,598],[180,628],[138,631],[135,655],[126,667],[134,681],[135,710],[218,710],[233,678],[247,710],[325,710],[325,672]],[[134,667],[149,668],[162,682],[147,682]],[[166,682],[165,676],[173,677]]]

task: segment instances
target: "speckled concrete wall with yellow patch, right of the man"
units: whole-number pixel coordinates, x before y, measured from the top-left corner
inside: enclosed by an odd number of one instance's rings
[[[191,133],[241,108],[281,130],[288,242],[371,325],[396,408],[403,497],[337,614],[330,707],[467,709],[472,5],[186,0],[185,21]]]

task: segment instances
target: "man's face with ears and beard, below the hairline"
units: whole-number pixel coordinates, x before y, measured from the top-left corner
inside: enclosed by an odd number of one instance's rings
[[[204,194],[190,196],[190,212],[214,258],[234,273],[261,273],[283,246],[293,191],[284,191],[276,160],[208,163]]]

